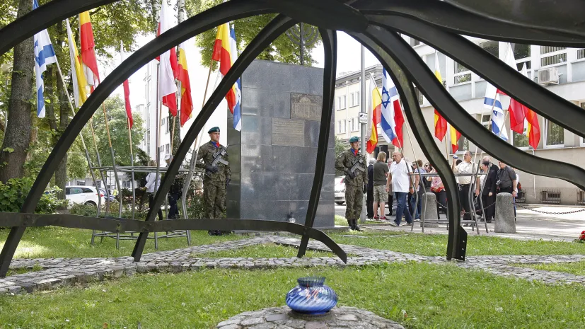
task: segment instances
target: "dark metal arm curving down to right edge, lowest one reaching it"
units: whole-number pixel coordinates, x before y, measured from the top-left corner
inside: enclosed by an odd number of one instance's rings
[[[419,86],[422,93],[427,96],[434,108],[453,127],[456,127],[461,134],[468,137],[473,144],[482,146],[482,149],[487,151],[488,154],[497,154],[497,158],[502,159],[502,161],[515,168],[520,168],[522,171],[546,177],[560,178],[584,189],[584,169],[568,163],[527,154],[504,142],[492,134],[492,132],[485,129],[480,122],[469,115],[453,99],[451,94],[443,87],[442,83],[429,70],[427,64],[424,64],[422,59],[418,55],[415,55],[415,50],[412,50],[412,47],[407,45],[402,37],[379,26],[370,26],[365,34],[368,37],[378,40],[378,42],[382,42],[384,50],[407,72],[407,75]]]

